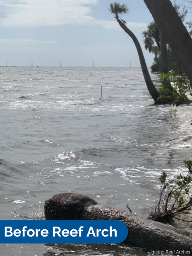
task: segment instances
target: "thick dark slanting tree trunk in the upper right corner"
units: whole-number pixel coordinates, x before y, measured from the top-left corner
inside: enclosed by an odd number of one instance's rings
[[[192,84],[192,38],[170,0],[144,0]]]

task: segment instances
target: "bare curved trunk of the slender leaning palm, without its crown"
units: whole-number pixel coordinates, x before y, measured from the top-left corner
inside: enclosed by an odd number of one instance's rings
[[[129,28],[121,20],[119,20],[118,17],[116,17],[116,20],[119,23],[119,25],[121,26],[121,28],[123,28],[123,30],[132,38],[132,40],[135,44],[135,47],[137,48],[137,52],[139,55],[139,60],[140,60],[140,64],[141,64],[141,68],[142,68],[146,86],[148,88],[148,91],[149,91],[151,97],[154,99],[155,103],[158,103],[158,98],[159,98],[160,94],[151,80],[151,77],[149,75],[149,71],[148,71],[148,68],[147,68],[147,65],[145,62],[145,58],[143,55],[143,51],[142,51],[142,48],[140,46],[140,43],[139,43],[137,37],[133,34],[132,31],[129,30]]]

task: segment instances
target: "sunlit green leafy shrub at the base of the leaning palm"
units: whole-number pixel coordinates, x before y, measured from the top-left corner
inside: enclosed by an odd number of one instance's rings
[[[170,81],[173,82],[173,91],[170,91]],[[158,101],[161,103],[168,103],[179,106],[180,104],[187,103],[187,93],[192,96],[192,86],[185,74],[179,75],[175,71],[169,73],[159,74],[159,92],[160,97]]]

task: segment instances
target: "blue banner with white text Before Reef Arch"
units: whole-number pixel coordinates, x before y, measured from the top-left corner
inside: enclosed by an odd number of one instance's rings
[[[1,244],[118,244],[127,235],[120,220],[0,220]]]

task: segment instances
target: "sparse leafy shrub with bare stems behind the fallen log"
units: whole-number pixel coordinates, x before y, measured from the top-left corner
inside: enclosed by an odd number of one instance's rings
[[[159,178],[161,188],[155,213],[159,213],[161,217],[176,218],[181,213],[190,213],[192,207],[192,161],[184,160],[183,162],[188,169],[186,175],[180,174],[169,180],[166,172],[163,172]]]

